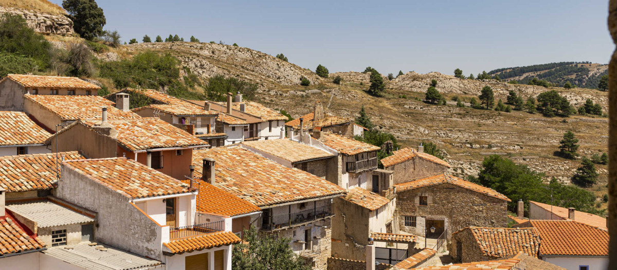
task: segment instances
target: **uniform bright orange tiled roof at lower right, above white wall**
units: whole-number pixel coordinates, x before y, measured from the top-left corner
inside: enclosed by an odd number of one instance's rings
[[[540,255],[608,256],[608,232],[571,220],[530,220],[540,233]]]

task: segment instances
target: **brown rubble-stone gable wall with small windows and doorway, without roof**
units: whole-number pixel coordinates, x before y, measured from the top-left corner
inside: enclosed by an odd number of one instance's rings
[[[396,218],[400,231],[424,236],[426,221],[436,227],[436,233],[445,229],[450,239],[452,232],[463,227],[505,227],[507,225],[507,202],[453,184],[439,184],[405,190],[397,194]],[[420,196],[426,196],[427,206],[420,205]],[[405,216],[416,218],[416,226],[405,226]],[[429,235],[437,237],[439,235]]]

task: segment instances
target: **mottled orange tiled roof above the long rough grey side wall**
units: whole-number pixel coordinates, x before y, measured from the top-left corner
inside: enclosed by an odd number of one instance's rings
[[[180,180],[128,158],[72,160],[63,164],[129,198],[191,192]]]

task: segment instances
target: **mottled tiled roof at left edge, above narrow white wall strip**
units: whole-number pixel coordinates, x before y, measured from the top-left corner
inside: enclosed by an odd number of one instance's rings
[[[51,136],[23,112],[0,112],[0,145],[43,144]]]

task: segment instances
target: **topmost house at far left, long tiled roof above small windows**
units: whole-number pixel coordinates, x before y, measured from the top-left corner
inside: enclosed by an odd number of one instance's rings
[[[0,110],[23,111],[23,96],[96,96],[101,89],[75,77],[9,74],[0,81]]]

